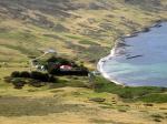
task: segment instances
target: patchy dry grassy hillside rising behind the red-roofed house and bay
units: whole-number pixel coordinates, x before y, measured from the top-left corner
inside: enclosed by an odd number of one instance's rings
[[[166,19],[166,0],[1,0],[0,61],[24,62],[52,48],[96,62],[119,37]]]

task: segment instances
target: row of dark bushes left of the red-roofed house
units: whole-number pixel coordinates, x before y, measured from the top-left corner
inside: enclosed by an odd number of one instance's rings
[[[7,83],[12,83],[14,89],[22,89],[26,84],[35,86],[35,87],[40,87],[43,86],[48,83],[57,83],[58,79],[49,75],[47,73],[41,73],[41,72],[18,72],[14,71],[11,73],[10,76],[6,76],[4,81]]]

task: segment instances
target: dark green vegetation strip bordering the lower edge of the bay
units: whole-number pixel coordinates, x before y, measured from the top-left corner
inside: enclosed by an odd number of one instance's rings
[[[124,101],[127,102],[132,101],[153,102],[153,103],[167,102],[166,87],[154,87],[154,86],[122,87],[120,85],[116,85],[115,83],[108,82],[102,78],[97,78],[95,80],[95,91],[117,94]]]

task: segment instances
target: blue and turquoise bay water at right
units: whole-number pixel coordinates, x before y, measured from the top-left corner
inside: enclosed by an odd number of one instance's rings
[[[149,32],[126,38],[125,43],[105,61],[104,72],[130,86],[167,87],[167,22],[150,28]]]

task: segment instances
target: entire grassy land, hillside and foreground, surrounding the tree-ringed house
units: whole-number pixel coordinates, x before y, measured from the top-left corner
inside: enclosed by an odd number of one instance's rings
[[[165,124],[163,87],[63,76],[16,90],[3,78],[28,71],[28,61],[48,49],[95,70],[119,37],[166,20],[166,0],[0,1],[0,124]]]

